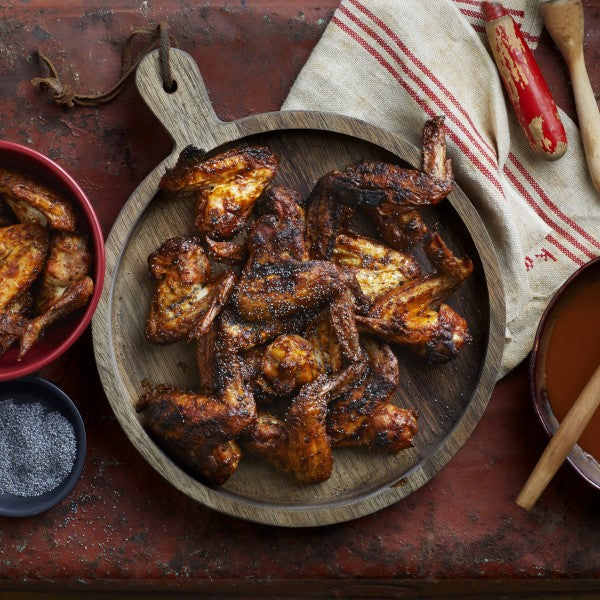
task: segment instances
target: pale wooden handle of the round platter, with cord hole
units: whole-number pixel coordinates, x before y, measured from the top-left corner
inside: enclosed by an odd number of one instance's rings
[[[173,138],[176,153],[188,144],[212,149],[229,141],[230,124],[215,114],[196,61],[187,52],[169,50],[176,89],[167,92],[163,89],[158,52],[154,50],[143,58],[135,82],[150,110]]]

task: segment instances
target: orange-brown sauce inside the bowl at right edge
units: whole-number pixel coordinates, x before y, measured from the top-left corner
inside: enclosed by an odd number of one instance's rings
[[[562,421],[600,364],[600,276],[593,269],[565,294],[546,353],[546,389]],[[600,410],[579,438],[579,446],[600,460]]]

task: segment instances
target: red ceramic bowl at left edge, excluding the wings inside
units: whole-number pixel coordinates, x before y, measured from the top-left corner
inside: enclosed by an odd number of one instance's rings
[[[45,367],[63,354],[88,326],[98,305],[104,282],[104,238],[98,217],[87,196],[75,180],[53,160],[26,146],[0,141],[0,167],[27,173],[72,202],[77,212],[77,229],[86,233],[90,239],[93,253],[91,276],[94,280],[94,293],[88,304],[48,327],[21,362],[17,360],[17,350],[14,347],[0,357],[0,381],[7,381]]]

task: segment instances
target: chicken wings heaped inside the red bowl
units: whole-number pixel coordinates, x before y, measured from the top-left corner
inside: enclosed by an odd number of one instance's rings
[[[70,202],[29,175],[0,168],[0,355],[21,360],[57,319],[94,291],[87,236]]]

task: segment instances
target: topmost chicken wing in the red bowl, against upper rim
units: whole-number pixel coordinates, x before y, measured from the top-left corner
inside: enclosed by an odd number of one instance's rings
[[[69,202],[33,177],[0,168],[0,193],[19,221],[75,231],[75,212]]]

